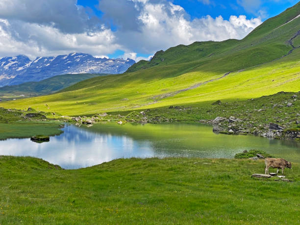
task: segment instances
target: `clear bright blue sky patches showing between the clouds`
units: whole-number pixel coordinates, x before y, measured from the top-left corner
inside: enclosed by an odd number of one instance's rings
[[[173,4],[184,8],[190,20],[210,15],[213,18],[222,16],[228,20],[232,15],[245,15],[247,18],[261,18],[261,21],[276,16],[282,11],[295,5],[298,0],[172,0]],[[77,4],[89,7],[95,15],[102,17],[99,0],[78,0]],[[117,27],[111,22],[112,29]],[[117,50],[108,56],[115,58],[124,54]],[[147,57],[147,53],[138,53],[137,56]]]

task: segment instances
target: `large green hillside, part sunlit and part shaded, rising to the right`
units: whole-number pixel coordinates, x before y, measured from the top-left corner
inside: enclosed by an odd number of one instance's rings
[[[134,64],[123,75],[91,78],[53,95],[0,106],[91,115],[298,92],[300,48],[295,46],[300,17],[293,19],[299,12],[300,3],[267,20],[243,40],[180,45],[157,52],[150,62]]]

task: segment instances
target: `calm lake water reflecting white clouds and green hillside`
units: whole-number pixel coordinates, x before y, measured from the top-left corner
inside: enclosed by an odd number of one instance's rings
[[[66,125],[63,131],[41,144],[29,138],[0,141],[0,155],[33,156],[65,169],[77,169],[117,158],[232,158],[243,150],[261,149],[300,163],[299,142],[215,134],[207,125],[107,123],[92,127]]]

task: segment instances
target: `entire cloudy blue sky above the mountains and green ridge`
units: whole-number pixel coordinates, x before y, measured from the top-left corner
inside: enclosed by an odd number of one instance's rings
[[[90,53],[149,59],[195,41],[242,39],[298,0],[0,0],[0,57]]]

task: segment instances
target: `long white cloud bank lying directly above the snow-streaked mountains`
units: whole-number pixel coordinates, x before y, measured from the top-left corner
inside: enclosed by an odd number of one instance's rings
[[[70,52],[109,54],[121,48],[110,29],[65,34],[53,26],[0,20],[0,55],[25,54],[30,58]]]

